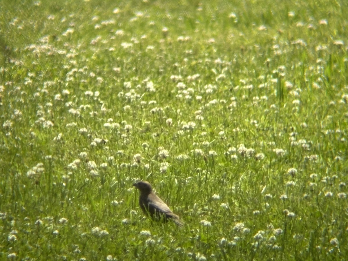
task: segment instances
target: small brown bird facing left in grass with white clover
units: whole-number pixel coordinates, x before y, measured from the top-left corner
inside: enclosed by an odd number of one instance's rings
[[[145,215],[155,221],[167,222],[172,220],[177,226],[183,226],[179,216],[175,215],[167,204],[153,192],[149,182],[138,181],[133,186],[140,191],[139,205]]]

